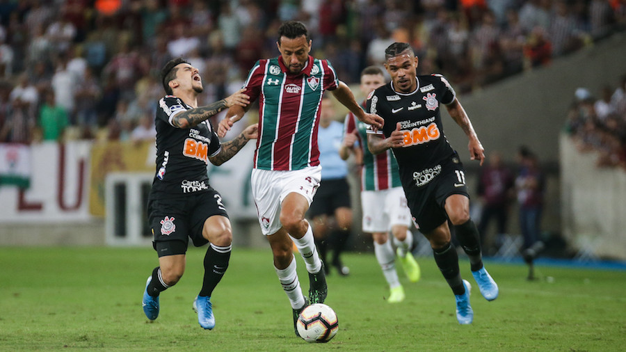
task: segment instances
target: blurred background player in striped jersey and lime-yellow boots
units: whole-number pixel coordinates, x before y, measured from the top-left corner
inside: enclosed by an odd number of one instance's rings
[[[364,95],[385,84],[383,71],[376,66],[366,67],[361,72],[360,89]],[[339,156],[348,159],[354,152],[362,159],[361,207],[363,231],[372,234],[374,253],[383,275],[390,287],[389,303],[404,300],[404,288],[396,272],[396,254],[389,241],[391,231],[396,244],[396,253],[403,269],[412,282],[419,280],[419,266],[410,252],[413,235],[408,230],[411,214],[400,183],[398,162],[391,150],[378,155],[371,154],[367,147],[367,125],[358,121],[352,113],[346,115],[345,136]]]

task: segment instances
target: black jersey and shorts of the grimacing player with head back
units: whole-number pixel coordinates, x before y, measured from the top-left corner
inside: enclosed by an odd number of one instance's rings
[[[159,257],[183,254],[187,237],[191,237],[195,246],[208,243],[202,237],[204,221],[213,215],[227,216],[222,198],[209,185],[207,174],[209,156],[220,152],[220,141],[211,122],[204,120],[188,129],[172,125],[177,113],[189,109],[191,106],[172,95],[161,98],[157,107],[157,168],[148,216]],[[185,244],[156,246],[171,240]]]

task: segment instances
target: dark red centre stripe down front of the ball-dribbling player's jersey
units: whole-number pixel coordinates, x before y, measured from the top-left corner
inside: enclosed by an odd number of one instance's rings
[[[298,93],[282,92],[282,102],[280,102],[280,113],[278,114],[278,128],[276,141],[273,150],[273,170],[291,170],[291,145],[296,134],[296,126],[300,118],[300,109],[304,94],[303,76],[291,77],[287,75],[283,89],[293,85],[300,87]],[[292,87],[293,87],[292,86]]]

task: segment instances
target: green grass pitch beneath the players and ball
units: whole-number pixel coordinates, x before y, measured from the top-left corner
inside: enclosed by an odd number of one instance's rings
[[[422,280],[408,282],[406,300],[389,291],[371,253],[347,253],[351,275],[328,276],[326,303],[339,317],[328,344],[294,335],[291,307],[269,248],[234,248],[211,302],[216,328],[198,325],[191,310],[200,290],[205,248],[188,251],[182,280],[161,294],[161,313],[148,323],[141,309],[152,248],[0,248],[0,350],[100,351],[623,351],[625,271],[527,267],[486,262],[500,287],[496,301],[479,293],[469,263],[474,323],[458,325],[454,296],[432,257],[417,258]],[[308,280],[301,258],[303,291]]]

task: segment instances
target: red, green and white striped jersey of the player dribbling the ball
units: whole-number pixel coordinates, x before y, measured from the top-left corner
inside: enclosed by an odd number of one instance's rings
[[[326,60],[309,56],[306,67],[291,74],[282,58],[257,61],[243,88],[250,102],[259,98],[259,138],[255,168],[300,170],[319,165],[317,129],[324,90],[339,86]]]

